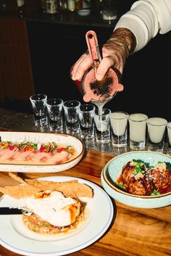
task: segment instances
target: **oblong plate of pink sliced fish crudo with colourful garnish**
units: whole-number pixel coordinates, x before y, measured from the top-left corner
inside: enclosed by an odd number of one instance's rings
[[[59,172],[84,154],[83,142],[67,134],[1,131],[0,137],[1,171]]]

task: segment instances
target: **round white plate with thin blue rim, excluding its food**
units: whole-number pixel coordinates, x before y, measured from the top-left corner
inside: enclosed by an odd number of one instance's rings
[[[22,224],[21,215],[0,215],[1,245],[12,252],[27,256],[58,256],[77,252],[98,240],[109,228],[114,210],[107,193],[91,181],[70,176],[54,176],[41,178],[46,181],[69,181],[77,179],[93,189],[93,198],[80,197],[86,203],[87,217],[83,225],[73,234],[63,236],[41,236],[28,232]],[[4,196],[0,207],[12,205],[12,197]],[[56,238],[56,239],[55,239]]]

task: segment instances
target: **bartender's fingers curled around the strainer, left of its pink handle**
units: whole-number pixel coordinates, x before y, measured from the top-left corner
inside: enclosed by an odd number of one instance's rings
[[[73,65],[71,70],[72,80],[81,80],[83,73],[91,66],[91,58],[87,53],[81,55],[80,59]]]

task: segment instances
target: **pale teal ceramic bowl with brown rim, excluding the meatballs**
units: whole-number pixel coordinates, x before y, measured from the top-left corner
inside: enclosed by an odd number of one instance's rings
[[[157,162],[167,162],[171,166],[171,157],[158,152],[128,152],[120,154],[109,160],[101,172],[101,183],[107,194],[118,202],[132,207],[158,208],[171,205],[171,191],[157,196],[138,196],[123,191],[116,185],[116,179],[120,176],[123,165],[133,159],[148,162],[150,165],[156,165]]]

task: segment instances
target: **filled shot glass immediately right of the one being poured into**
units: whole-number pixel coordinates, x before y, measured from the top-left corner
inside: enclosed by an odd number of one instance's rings
[[[110,115],[113,146],[126,146],[128,134],[128,113],[117,111]]]

